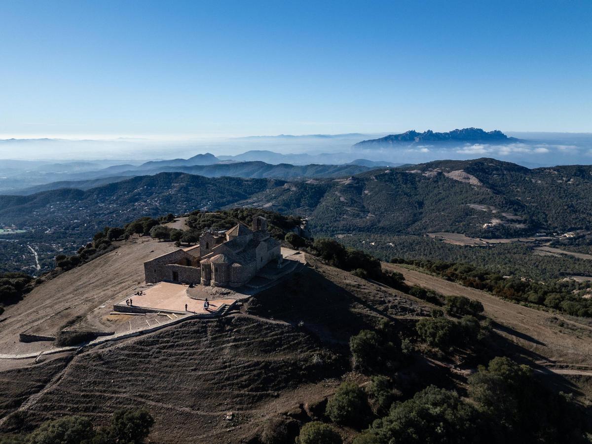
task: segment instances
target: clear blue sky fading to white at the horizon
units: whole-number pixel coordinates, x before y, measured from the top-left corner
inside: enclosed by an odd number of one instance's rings
[[[592,131],[592,1],[0,2],[0,137]]]

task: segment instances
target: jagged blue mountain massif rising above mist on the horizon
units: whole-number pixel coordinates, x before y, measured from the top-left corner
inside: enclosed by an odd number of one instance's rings
[[[354,144],[354,147],[366,148],[369,146],[385,146],[398,143],[439,143],[439,142],[462,142],[462,143],[514,143],[519,141],[514,137],[508,137],[499,130],[484,131],[481,128],[462,128],[447,133],[435,133],[432,130],[418,133],[411,130],[402,134],[390,134],[379,139],[363,140]]]

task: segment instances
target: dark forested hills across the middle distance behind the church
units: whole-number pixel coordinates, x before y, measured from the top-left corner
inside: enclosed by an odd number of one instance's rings
[[[310,181],[165,172],[88,191],[0,196],[0,221],[55,226],[61,217],[68,224],[115,224],[225,205],[302,214],[317,233],[329,234],[453,231],[491,237],[592,230],[592,166],[528,169],[488,158],[443,160]]]

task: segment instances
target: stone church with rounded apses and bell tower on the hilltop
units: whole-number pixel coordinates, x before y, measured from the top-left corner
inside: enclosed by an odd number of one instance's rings
[[[147,284],[160,281],[240,287],[267,266],[282,266],[280,244],[267,230],[265,217],[252,228],[239,223],[224,233],[205,231],[199,244],[144,262]]]

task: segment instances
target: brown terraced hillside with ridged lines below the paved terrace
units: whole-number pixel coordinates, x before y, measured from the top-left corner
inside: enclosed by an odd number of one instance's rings
[[[339,376],[331,360],[289,325],[240,316],[186,321],[75,356],[25,407],[32,422],[83,413],[100,423],[119,407],[144,406],[156,417],[153,442],[238,442],[292,406],[293,398],[277,402],[282,390]]]

